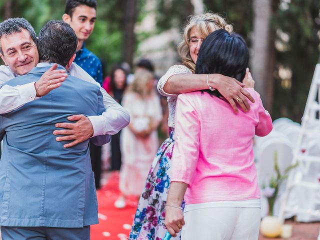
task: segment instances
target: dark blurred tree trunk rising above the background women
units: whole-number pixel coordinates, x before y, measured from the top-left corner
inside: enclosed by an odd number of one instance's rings
[[[132,66],[134,52],[134,24],[137,14],[137,0],[125,0],[124,4],[124,38],[123,38],[123,58]]]

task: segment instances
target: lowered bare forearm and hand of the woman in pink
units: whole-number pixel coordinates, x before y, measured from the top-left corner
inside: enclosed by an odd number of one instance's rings
[[[175,237],[184,225],[181,203],[187,184],[181,181],[172,181],[165,206],[165,226],[171,236]]]

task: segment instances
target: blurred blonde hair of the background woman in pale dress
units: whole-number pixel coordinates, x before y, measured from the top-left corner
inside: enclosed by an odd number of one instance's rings
[[[146,89],[145,85],[147,81],[153,79],[153,74],[145,69],[137,69],[134,72],[134,80],[129,85],[127,92],[135,92],[141,96],[141,98],[145,98],[151,94],[154,94],[155,91],[152,88],[151,90]]]

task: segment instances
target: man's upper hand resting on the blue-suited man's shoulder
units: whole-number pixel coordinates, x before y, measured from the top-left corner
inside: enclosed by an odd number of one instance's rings
[[[50,90],[55,89],[61,85],[67,77],[65,70],[56,70],[57,64],[53,64],[38,81],[34,83],[36,96],[44,96]]]

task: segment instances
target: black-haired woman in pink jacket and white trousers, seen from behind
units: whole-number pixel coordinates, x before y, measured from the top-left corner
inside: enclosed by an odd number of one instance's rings
[[[201,39],[196,32],[194,37]],[[244,40],[219,29],[203,40],[195,72],[241,81],[248,59]],[[172,236],[182,228],[182,240],[258,238],[260,193],[252,140],[254,134],[268,134],[272,121],[259,94],[246,89],[255,102],[249,102],[250,111],[237,114],[214,88],[178,96],[165,207],[165,225]]]

